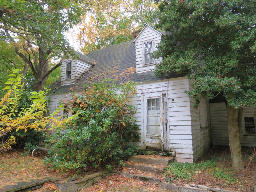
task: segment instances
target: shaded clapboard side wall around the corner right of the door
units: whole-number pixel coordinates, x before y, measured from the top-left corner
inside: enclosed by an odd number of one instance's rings
[[[192,82],[189,80],[189,91],[193,90],[191,83]],[[211,145],[210,111],[209,111],[208,99],[206,97],[202,97],[201,102],[206,102],[206,118],[207,118],[207,126],[202,127],[200,125],[199,108],[193,107],[195,103],[193,98],[189,97],[189,99],[191,104],[190,113],[191,113],[191,133],[192,133],[192,141],[193,141],[193,144],[192,144],[193,160],[195,162],[199,157],[201,157],[209,149]]]

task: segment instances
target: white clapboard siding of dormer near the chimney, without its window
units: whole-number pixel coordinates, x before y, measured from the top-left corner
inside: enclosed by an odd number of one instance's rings
[[[154,50],[157,50],[158,43],[162,40],[162,34],[155,31],[152,27],[146,25],[137,39],[135,39],[135,57],[136,57],[136,72],[141,73],[143,71],[149,71],[155,69],[155,64],[162,61],[162,58],[156,59],[154,63],[149,65],[143,65],[143,42],[154,41]]]

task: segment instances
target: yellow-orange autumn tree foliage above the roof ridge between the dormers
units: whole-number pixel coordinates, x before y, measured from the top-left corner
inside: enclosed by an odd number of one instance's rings
[[[157,6],[153,0],[117,0],[90,6],[74,28],[80,50],[91,50],[130,41],[132,31],[154,24]]]

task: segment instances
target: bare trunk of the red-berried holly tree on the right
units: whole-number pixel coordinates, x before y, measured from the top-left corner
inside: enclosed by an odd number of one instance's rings
[[[229,147],[232,159],[232,167],[235,169],[243,169],[240,133],[238,127],[238,109],[226,103],[227,107],[227,123],[229,132]]]

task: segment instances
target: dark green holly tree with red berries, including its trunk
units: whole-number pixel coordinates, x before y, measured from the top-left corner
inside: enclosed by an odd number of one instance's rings
[[[162,13],[158,27],[169,35],[154,53],[163,57],[155,74],[186,73],[196,106],[202,95],[223,94],[233,166],[242,168],[237,109],[256,107],[256,1],[156,2]]]

